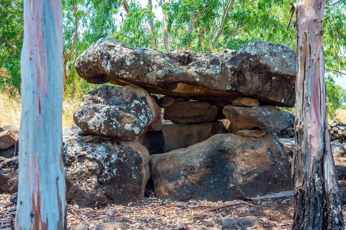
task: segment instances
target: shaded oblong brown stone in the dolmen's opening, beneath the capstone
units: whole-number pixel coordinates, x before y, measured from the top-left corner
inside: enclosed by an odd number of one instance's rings
[[[163,118],[174,124],[193,124],[224,118],[217,104],[198,101],[177,101],[164,110]]]

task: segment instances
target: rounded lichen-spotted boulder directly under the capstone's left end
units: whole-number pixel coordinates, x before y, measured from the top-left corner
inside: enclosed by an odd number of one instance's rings
[[[83,97],[73,119],[85,132],[134,140],[147,130],[161,130],[161,110],[152,96],[134,85],[102,86]]]

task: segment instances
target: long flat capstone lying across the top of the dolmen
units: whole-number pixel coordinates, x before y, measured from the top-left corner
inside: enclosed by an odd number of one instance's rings
[[[199,54],[162,53],[99,39],[78,57],[75,67],[90,83],[137,84],[151,93],[195,100],[231,102],[246,95],[286,107],[295,101],[295,54],[265,41],[253,41],[238,51]]]

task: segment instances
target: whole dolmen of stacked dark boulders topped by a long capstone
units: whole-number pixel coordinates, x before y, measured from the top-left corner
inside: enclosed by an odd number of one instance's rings
[[[155,196],[173,200],[292,189],[273,134],[293,125],[292,114],[275,107],[294,105],[288,47],[254,41],[238,51],[162,53],[100,39],[76,70],[89,83],[124,87],[89,92],[74,113],[83,136],[63,139],[69,202],[128,203],[144,197],[149,177]],[[150,93],[166,96],[155,101]],[[159,105],[172,123],[162,124]]]

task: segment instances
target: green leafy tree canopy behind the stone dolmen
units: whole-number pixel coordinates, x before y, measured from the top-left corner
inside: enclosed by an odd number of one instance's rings
[[[326,71],[341,76],[346,67],[346,1],[326,2]],[[134,0],[63,0],[67,94],[83,94],[91,89],[90,84],[77,77],[74,61],[76,55],[103,37],[161,51],[169,48],[216,52],[238,49],[256,39],[295,49],[295,21],[290,20],[288,0],[159,0],[154,6],[152,0],[145,3],[148,4]],[[22,0],[0,0],[1,91],[6,87],[10,91],[20,88],[22,5]],[[157,10],[162,10],[162,20],[155,15]]]

